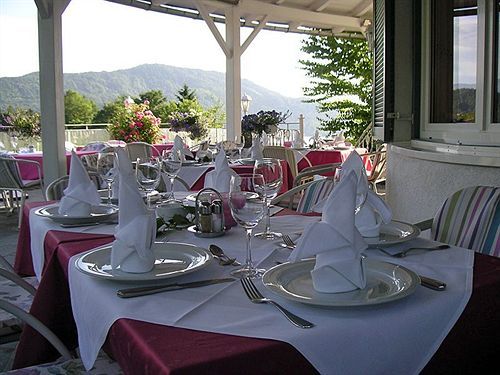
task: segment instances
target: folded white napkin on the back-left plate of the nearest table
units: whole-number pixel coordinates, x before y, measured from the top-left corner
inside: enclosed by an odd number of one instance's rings
[[[59,203],[59,214],[67,216],[89,216],[92,205],[101,203],[97,187],[90,180],[82,160],[71,152],[68,187]]]

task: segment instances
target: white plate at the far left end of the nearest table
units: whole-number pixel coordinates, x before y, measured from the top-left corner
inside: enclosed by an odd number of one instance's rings
[[[91,206],[90,210],[89,216],[61,215],[59,205],[53,204],[35,210],[35,215],[49,218],[59,224],[88,224],[112,220],[113,216],[118,213],[118,207],[104,204]]]

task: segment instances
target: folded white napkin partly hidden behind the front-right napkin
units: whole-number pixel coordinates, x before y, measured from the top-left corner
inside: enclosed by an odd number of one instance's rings
[[[350,171],[357,177],[357,205],[362,202],[355,216],[356,227],[363,237],[378,237],[380,225],[391,221],[392,212],[384,200],[369,189],[363,159],[356,151],[352,151],[342,164],[343,176]]]

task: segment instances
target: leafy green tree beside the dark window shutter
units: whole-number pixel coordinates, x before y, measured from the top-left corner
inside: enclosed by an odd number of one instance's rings
[[[373,59],[364,39],[310,36],[302,44],[310,55],[300,60],[311,85],[304,94],[317,103],[325,117],[320,129],[343,130],[348,139],[359,138],[372,117]]]

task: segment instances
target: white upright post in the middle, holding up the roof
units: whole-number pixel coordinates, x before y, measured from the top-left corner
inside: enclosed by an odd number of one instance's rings
[[[226,138],[241,135],[241,42],[238,7],[226,11]]]

